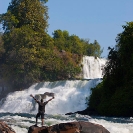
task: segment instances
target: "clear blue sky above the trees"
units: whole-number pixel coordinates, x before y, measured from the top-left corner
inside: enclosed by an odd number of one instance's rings
[[[0,0],[0,14],[5,13],[11,0]],[[49,0],[48,34],[67,30],[69,35],[97,40],[107,58],[108,47],[116,45],[122,25],[133,21],[133,0]]]

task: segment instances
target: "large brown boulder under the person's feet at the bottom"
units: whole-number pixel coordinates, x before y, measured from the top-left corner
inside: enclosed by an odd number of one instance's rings
[[[110,133],[102,125],[85,121],[60,123],[50,127],[29,127],[28,133]]]

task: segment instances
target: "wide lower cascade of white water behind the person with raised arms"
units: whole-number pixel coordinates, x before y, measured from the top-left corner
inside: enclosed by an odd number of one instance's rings
[[[86,98],[90,96],[90,89],[95,87],[100,79],[44,82],[31,86],[24,91],[17,91],[7,96],[0,112],[10,113],[37,113],[34,110],[34,102],[30,94],[43,94],[45,92],[55,93],[55,99],[50,101],[46,107],[48,114],[65,114],[86,109]],[[48,100],[50,97],[47,97]]]

